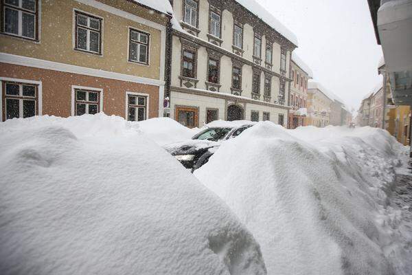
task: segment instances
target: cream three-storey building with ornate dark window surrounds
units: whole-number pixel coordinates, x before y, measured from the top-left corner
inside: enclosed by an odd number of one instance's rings
[[[213,120],[288,123],[293,34],[239,0],[173,0],[170,117],[189,127]],[[250,5],[251,4],[251,5]],[[266,16],[266,17],[265,17]],[[271,20],[273,19],[273,20]],[[273,23],[275,22],[275,23]],[[288,36],[288,38],[286,38]]]

